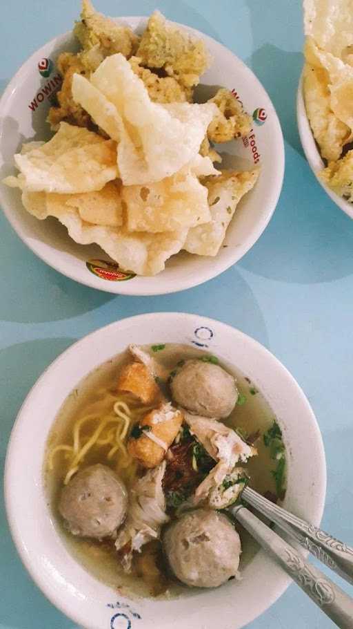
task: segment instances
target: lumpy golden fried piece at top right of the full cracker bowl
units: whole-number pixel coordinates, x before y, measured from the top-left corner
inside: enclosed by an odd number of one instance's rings
[[[170,77],[186,87],[199,84],[208,67],[208,53],[203,41],[194,40],[154,11],[141,37],[137,57],[148,68],[163,68]]]

